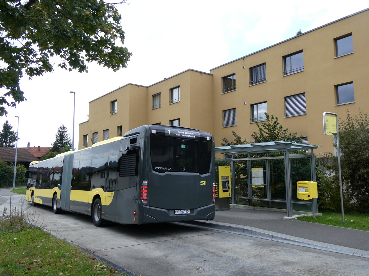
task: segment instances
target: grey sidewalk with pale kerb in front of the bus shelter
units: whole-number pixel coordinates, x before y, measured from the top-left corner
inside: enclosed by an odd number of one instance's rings
[[[284,212],[231,208],[184,224],[369,258],[369,231],[284,219]],[[317,217],[318,218],[318,217]]]

